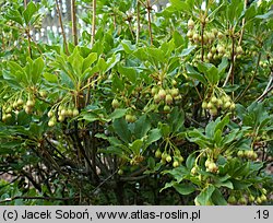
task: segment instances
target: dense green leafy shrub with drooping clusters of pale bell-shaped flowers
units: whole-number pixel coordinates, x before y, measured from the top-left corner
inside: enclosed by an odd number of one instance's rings
[[[271,202],[272,1],[0,2],[0,202]]]

